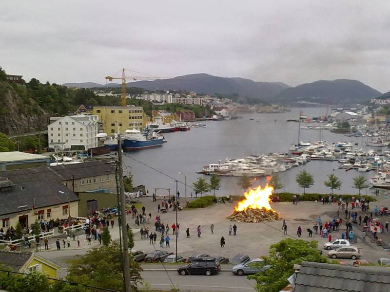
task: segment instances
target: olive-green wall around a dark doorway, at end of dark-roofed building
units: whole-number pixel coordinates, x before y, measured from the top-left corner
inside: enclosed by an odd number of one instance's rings
[[[78,193],[78,216],[86,217],[87,215],[87,201],[97,200],[98,210],[102,208],[113,208],[117,206],[117,194],[116,193]]]

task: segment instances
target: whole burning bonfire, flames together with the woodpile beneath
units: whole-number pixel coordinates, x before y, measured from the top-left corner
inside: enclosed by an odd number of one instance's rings
[[[238,222],[275,221],[279,215],[270,205],[273,187],[268,184],[250,189],[244,193],[245,199],[238,202],[235,211],[227,219]]]

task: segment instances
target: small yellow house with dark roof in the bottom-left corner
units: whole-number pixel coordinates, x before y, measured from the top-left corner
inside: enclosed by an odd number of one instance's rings
[[[0,263],[14,272],[31,274],[39,272],[56,279],[60,266],[34,253],[0,251]]]

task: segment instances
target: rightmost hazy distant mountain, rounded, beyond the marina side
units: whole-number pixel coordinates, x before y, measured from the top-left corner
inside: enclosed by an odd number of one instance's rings
[[[288,88],[276,96],[280,103],[314,102],[326,104],[361,103],[382,93],[351,79],[319,80]]]

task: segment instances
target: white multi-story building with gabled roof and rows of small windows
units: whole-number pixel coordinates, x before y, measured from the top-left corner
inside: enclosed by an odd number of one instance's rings
[[[98,116],[72,115],[50,118],[47,126],[49,147],[88,150],[98,146]]]

